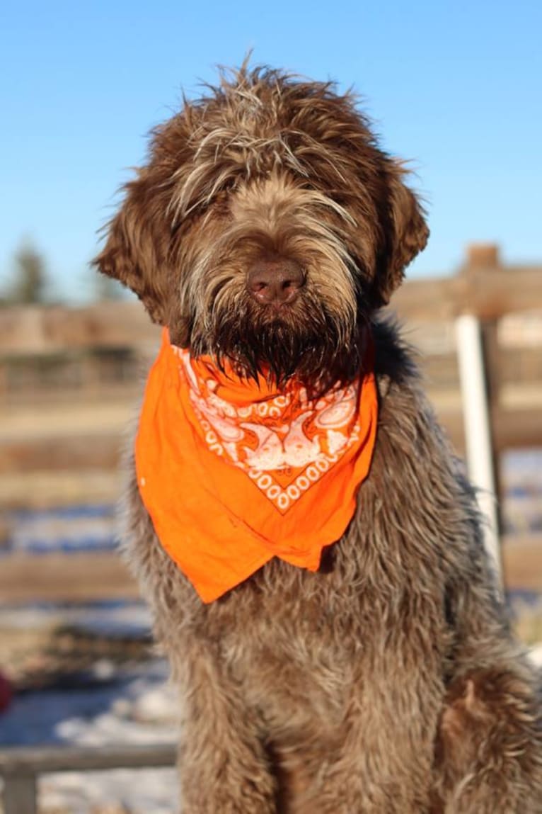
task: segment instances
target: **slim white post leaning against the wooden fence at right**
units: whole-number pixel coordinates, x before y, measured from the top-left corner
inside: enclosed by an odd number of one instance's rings
[[[473,314],[457,317],[456,335],[467,466],[470,480],[480,490],[479,508],[486,519],[484,541],[502,584],[487,374],[479,319]]]

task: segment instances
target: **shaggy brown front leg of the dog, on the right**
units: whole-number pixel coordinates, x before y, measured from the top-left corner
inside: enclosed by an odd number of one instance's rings
[[[397,651],[396,651],[397,653]],[[436,695],[417,675],[391,681],[384,655],[353,685],[342,732],[323,751],[314,794],[296,814],[428,814]],[[385,663],[384,663],[385,662]],[[398,676],[397,676],[398,678]]]

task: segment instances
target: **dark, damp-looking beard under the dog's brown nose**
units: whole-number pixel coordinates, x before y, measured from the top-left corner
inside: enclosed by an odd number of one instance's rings
[[[193,326],[194,356],[210,354],[241,378],[263,375],[279,389],[295,378],[317,396],[347,383],[362,369],[363,319],[343,320],[304,292],[280,309],[261,306],[249,295],[215,308],[205,330]]]

